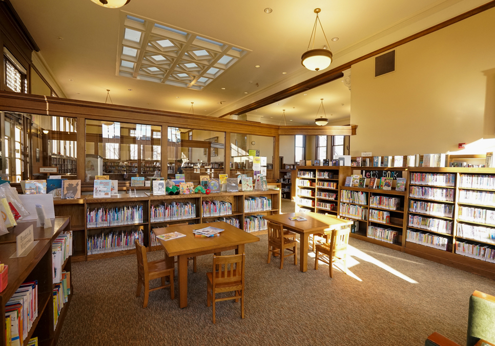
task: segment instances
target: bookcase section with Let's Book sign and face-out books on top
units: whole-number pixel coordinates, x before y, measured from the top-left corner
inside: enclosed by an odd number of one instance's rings
[[[402,251],[405,174],[403,168],[377,167],[346,177],[339,189],[339,216],[355,221],[351,237]]]

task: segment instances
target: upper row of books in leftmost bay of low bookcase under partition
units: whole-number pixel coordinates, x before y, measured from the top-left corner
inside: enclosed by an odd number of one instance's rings
[[[87,228],[132,225],[142,222],[142,205],[111,209],[102,207],[93,210],[88,209],[86,213]]]

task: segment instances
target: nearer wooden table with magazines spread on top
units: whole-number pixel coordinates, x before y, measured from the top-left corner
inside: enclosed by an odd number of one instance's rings
[[[224,231],[220,236],[209,238],[196,238],[193,230],[205,227],[221,228]],[[244,244],[259,241],[255,235],[244,232],[229,223],[219,221],[210,223],[199,223],[197,225],[174,226],[167,228],[156,228],[155,235],[179,232],[185,237],[163,241],[158,239],[165,249],[165,260],[167,268],[174,267],[174,256],[177,256],[178,281],[179,281],[179,306],[188,306],[188,258],[194,256],[218,254],[222,251],[235,250],[236,254],[244,252]]]

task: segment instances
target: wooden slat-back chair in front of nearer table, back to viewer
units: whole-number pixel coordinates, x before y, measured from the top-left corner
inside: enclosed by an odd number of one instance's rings
[[[244,262],[245,253],[232,256],[213,255],[213,272],[207,273],[207,306],[213,302],[213,323],[215,323],[215,302],[235,299],[241,300],[241,318],[244,318]],[[229,268],[230,267],[230,268]],[[216,271],[218,268],[218,271]],[[213,275],[215,273],[215,275]],[[235,292],[234,296],[216,298],[217,293]]]

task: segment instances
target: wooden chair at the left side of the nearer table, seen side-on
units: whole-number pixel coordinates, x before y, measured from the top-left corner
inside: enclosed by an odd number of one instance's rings
[[[136,297],[141,295],[141,287],[145,285],[145,301],[142,307],[148,306],[148,296],[151,291],[170,287],[170,299],[174,299],[174,271],[175,268],[166,269],[164,259],[148,262],[146,247],[142,246],[139,241],[135,240],[137,255],[137,292]],[[170,283],[165,284],[165,277],[170,277]],[[150,290],[150,280],[161,278],[161,286]]]

